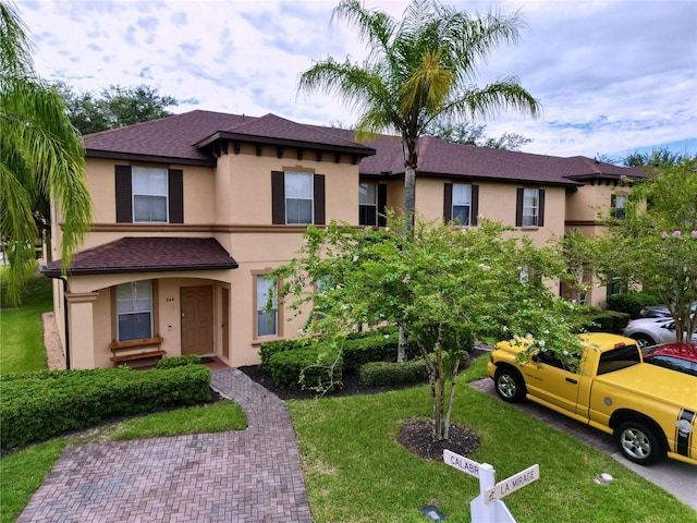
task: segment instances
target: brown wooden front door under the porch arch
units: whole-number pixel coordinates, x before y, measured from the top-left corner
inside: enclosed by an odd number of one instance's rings
[[[182,287],[182,354],[213,352],[213,288]]]

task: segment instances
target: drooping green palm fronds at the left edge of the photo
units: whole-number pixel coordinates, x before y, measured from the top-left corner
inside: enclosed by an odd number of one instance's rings
[[[8,297],[19,304],[27,268],[35,264],[37,205],[61,209],[63,268],[91,218],[85,155],[60,94],[34,71],[26,27],[13,5],[0,3],[0,232],[8,246]]]

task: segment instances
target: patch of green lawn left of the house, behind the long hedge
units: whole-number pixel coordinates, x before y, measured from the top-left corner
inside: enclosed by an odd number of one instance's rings
[[[5,296],[7,267],[0,267],[0,296]],[[0,312],[0,373],[33,373],[46,368],[41,314],[52,311],[49,278],[32,278],[20,308]],[[4,304],[2,305],[4,307]]]

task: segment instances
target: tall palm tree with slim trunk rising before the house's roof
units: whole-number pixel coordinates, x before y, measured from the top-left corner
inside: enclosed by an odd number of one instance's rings
[[[414,217],[418,139],[438,120],[480,119],[500,109],[537,117],[539,102],[516,77],[485,87],[474,85],[477,62],[500,44],[516,41],[525,24],[516,12],[470,17],[436,0],[414,0],[401,22],[359,0],[341,0],[333,16],[356,26],[368,46],[363,64],[333,58],[305,71],[299,89],[339,95],[360,112],[357,139],[372,133],[398,133],[404,151],[404,205],[407,234]],[[402,328],[405,326],[401,326]],[[404,333],[404,330],[401,329]],[[401,336],[398,358],[404,360]]]

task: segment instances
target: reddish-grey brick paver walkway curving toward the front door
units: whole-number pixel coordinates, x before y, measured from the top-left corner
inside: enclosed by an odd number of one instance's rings
[[[245,430],[69,447],[17,522],[311,523],[285,403],[236,368],[212,385]]]

